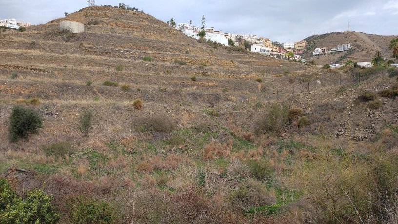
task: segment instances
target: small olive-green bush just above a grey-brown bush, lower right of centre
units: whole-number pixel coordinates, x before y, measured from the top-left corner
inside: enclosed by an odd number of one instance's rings
[[[275,170],[266,161],[248,160],[246,162],[250,170],[250,175],[259,181],[274,180]]]

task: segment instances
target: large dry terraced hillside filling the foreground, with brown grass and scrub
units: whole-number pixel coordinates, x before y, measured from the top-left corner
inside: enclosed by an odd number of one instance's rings
[[[0,35],[0,223],[397,220],[395,68],[276,60],[113,7]]]

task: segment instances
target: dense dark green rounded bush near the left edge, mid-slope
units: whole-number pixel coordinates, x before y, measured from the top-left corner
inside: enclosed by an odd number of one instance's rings
[[[21,105],[14,106],[8,126],[8,139],[16,142],[20,138],[28,139],[30,133],[38,133],[42,119],[33,108]]]

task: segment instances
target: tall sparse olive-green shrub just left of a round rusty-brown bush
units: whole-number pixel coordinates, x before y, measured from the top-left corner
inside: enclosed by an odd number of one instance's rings
[[[280,134],[289,121],[289,109],[286,105],[273,105],[259,120],[259,132]]]

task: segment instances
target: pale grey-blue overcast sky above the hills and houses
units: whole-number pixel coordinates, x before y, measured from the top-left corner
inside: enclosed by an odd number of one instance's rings
[[[299,41],[308,35],[350,30],[398,35],[398,0],[96,0],[97,5],[131,7],[167,21],[192,20],[235,34],[272,41]],[[87,0],[0,0],[0,18],[46,23],[88,6]]]

